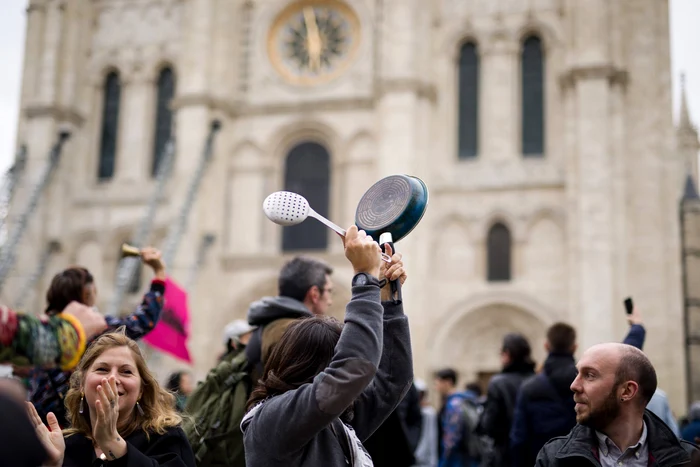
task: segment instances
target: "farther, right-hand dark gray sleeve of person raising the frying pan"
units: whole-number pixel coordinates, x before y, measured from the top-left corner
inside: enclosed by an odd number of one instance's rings
[[[413,381],[413,357],[408,318],[402,305],[383,302],[384,345],[379,369],[355,402],[352,426],[365,441],[403,400]]]

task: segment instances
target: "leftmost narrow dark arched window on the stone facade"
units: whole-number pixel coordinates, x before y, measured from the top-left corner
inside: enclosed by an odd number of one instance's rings
[[[120,94],[121,84],[119,83],[119,74],[113,71],[105,78],[104,85],[100,160],[97,167],[97,178],[99,180],[109,180],[114,176],[114,163],[117,154],[117,134],[119,131]]]

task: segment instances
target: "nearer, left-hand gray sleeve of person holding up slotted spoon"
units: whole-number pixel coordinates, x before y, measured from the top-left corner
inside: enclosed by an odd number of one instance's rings
[[[353,287],[333,359],[312,383],[269,399],[250,421],[253,442],[282,459],[311,441],[372,381],[382,346],[379,287]],[[276,433],[276,436],[269,436]]]

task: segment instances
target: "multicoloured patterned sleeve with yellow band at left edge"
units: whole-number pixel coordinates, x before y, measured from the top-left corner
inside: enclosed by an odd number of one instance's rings
[[[37,318],[0,305],[0,362],[70,370],[85,346],[83,327],[72,315]]]

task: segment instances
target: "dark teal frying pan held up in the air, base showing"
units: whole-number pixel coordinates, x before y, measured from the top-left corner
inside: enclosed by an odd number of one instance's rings
[[[379,240],[384,250],[408,235],[423,219],[428,208],[428,187],[423,180],[411,175],[390,175],[372,185],[362,195],[355,212],[355,225],[367,235]],[[392,297],[401,287],[398,281],[391,283]]]

